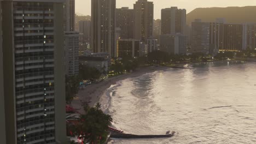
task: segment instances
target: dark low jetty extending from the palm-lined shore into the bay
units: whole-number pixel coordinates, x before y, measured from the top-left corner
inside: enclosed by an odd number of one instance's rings
[[[162,137],[172,137],[175,134],[175,131],[167,131],[164,135],[133,135],[133,134],[125,134],[121,130],[117,130],[114,128],[109,129],[111,134],[111,138],[116,139],[150,139],[150,138],[162,138]]]

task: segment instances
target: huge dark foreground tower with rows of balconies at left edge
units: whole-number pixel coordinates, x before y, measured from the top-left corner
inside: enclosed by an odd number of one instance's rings
[[[1,4],[6,143],[66,143],[63,1]]]

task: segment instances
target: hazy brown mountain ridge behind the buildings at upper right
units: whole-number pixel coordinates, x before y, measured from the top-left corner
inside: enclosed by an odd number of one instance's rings
[[[190,25],[195,19],[205,22],[215,22],[216,18],[224,17],[229,23],[256,23],[256,6],[226,7],[226,8],[196,8],[187,14],[187,23]]]

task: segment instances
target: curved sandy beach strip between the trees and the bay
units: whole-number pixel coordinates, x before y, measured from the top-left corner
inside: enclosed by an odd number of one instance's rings
[[[127,73],[119,76],[110,77],[107,80],[99,83],[93,83],[84,88],[80,88],[77,97],[74,98],[71,105],[79,113],[84,113],[83,104],[88,103],[90,107],[94,106],[102,94],[111,86],[115,85],[120,80],[125,80],[129,77],[137,77],[146,73],[152,73],[156,70],[165,70],[170,67],[141,67],[133,71],[133,73]]]

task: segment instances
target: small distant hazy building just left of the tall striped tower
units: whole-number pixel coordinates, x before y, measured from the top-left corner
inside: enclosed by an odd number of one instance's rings
[[[83,34],[83,40],[90,41],[91,21],[79,21],[79,33]]]

